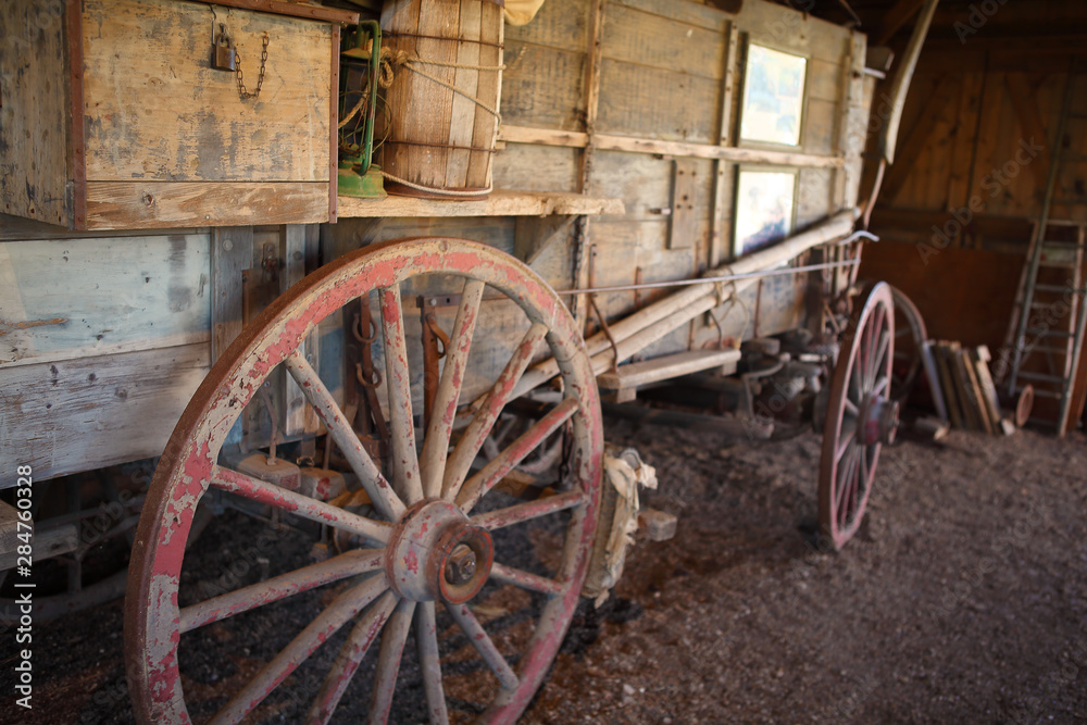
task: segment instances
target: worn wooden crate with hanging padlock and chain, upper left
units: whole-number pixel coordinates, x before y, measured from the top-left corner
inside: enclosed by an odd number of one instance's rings
[[[357,17],[276,0],[5,0],[0,209],[73,229],[334,221],[338,23]],[[211,66],[218,23],[249,90],[267,33],[258,98]]]

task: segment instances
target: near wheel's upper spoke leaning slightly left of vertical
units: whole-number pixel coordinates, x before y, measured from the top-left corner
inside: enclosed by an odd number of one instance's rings
[[[411,411],[411,370],[404,337],[400,286],[378,290],[385,333],[385,380],[389,391],[389,433],[392,436],[392,478],[409,504],[423,498]]]

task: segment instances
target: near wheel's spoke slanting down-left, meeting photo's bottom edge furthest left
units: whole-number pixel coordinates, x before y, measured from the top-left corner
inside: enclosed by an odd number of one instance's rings
[[[347,624],[387,588],[385,575],[377,574],[337,597],[282,652],[264,665],[255,677],[230,698],[230,701],[215,713],[211,722],[216,725],[240,722],[333,633]]]

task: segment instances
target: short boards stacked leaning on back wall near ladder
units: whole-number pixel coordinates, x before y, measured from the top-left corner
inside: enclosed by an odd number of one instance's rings
[[[959,342],[934,340],[926,348],[936,371],[933,396],[941,399],[951,427],[989,435],[1015,430],[1011,417],[1000,410],[986,346],[964,348]]]

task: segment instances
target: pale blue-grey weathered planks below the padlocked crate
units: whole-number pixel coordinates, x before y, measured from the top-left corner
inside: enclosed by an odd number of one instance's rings
[[[3,237],[5,460],[45,479],[160,454],[211,365],[209,232]]]

